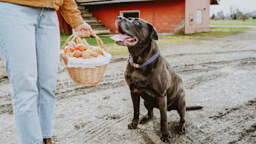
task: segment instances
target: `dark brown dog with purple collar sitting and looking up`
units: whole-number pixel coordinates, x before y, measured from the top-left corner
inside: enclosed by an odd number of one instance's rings
[[[118,16],[116,27],[121,33],[112,39],[118,45],[127,46],[129,60],[125,79],[132,96],[134,116],[128,128],[136,128],[138,122],[147,122],[153,117],[153,108],[161,113],[161,140],[169,142],[167,111],[177,110],[180,116],[179,133],[185,132],[185,89],[182,79],[159,53],[156,29],[142,19]],[[140,96],[148,114],[138,119]],[[202,107],[190,107],[199,109]]]

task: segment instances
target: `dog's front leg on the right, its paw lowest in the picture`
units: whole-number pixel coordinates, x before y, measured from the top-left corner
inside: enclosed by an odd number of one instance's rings
[[[164,143],[170,141],[170,131],[168,130],[167,122],[167,96],[159,97],[159,110],[161,114],[161,140]]]

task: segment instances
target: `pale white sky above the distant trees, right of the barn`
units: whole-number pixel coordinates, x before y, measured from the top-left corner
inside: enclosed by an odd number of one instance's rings
[[[224,15],[230,13],[230,7],[235,6],[243,13],[256,10],[256,0],[220,0],[219,5],[210,6],[210,16],[223,10]]]

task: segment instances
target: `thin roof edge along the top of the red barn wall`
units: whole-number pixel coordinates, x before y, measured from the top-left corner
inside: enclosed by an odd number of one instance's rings
[[[153,1],[153,0],[77,0],[81,2],[81,5],[95,5],[95,4],[115,4],[115,3],[124,3],[124,2],[138,2],[138,1]]]

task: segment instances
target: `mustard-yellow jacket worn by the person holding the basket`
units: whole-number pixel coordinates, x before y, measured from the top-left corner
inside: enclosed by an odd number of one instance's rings
[[[59,10],[60,13],[71,27],[77,27],[83,24],[83,18],[80,10],[77,9],[77,3],[74,0],[0,0],[12,4],[20,4],[29,7],[49,7]]]

